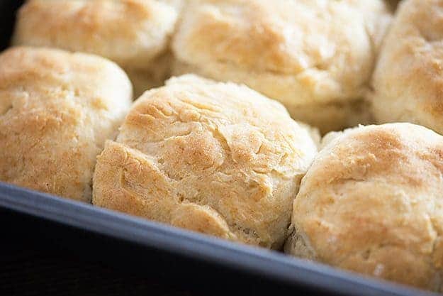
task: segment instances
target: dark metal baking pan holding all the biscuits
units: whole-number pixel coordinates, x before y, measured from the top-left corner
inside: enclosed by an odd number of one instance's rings
[[[21,2],[0,0],[2,49]],[[210,295],[435,295],[2,182],[0,215],[16,236]]]

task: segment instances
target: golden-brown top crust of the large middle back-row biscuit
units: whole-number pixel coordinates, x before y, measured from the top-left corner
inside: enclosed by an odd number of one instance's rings
[[[366,83],[388,19],[378,0],[189,1],[173,48],[199,67],[216,61],[301,80],[317,72],[349,93]]]

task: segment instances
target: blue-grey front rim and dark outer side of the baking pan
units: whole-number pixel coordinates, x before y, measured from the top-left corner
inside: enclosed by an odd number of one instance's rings
[[[152,268],[150,257],[163,253],[171,262],[164,266],[156,263],[155,269],[162,272],[177,269],[184,278],[204,275],[205,283],[220,281],[221,272],[223,283],[235,283],[235,288],[242,290],[289,290],[295,295],[301,291],[318,295],[425,295],[422,291],[359,277],[276,251],[242,246],[4,183],[0,183],[0,207],[34,217],[32,225],[24,227],[38,233],[47,243],[64,241],[64,245],[79,252],[106,251],[108,255],[97,254],[97,258],[106,260],[124,256],[125,261],[131,262],[126,266],[130,268]],[[44,220],[44,226],[35,227],[38,220]],[[76,230],[98,236],[91,239],[78,235]],[[118,243],[113,246],[113,242]],[[174,262],[176,265],[171,265]],[[172,273],[172,278],[175,276]]]

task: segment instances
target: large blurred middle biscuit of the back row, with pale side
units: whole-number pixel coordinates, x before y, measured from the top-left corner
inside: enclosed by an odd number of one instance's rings
[[[363,97],[390,13],[382,0],[189,0],[174,73],[247,84],[321,131],[370,121]]]

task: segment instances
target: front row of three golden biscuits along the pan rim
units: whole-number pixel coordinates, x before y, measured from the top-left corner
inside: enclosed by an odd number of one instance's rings
[[[360,126],[318,153],[318,133],[245,86],[185,75],[130,97],[101,57],[2,53],[0,180],[439,290],[443,136]]]

